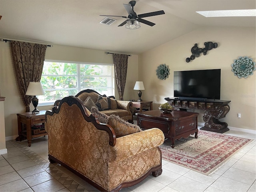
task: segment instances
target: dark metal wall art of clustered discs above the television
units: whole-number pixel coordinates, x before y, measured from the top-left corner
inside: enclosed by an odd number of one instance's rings
[[[218,43],[213,43],[213,42],[205,42],[204,43],[204,48],[199,48],[197,46],[197,44],[195,44],[192,48],[191,48],[191,52],[192,55],[190,56],[190,58],[186,58],[186,62],[190,62],[190,60],[194,60],[196,57],[200,56],[200,53],[203,53],[204,55],[206,55],[206,53],[208,52],[208,50],[212,50],[213,48],[217,48],[218,47]]]

